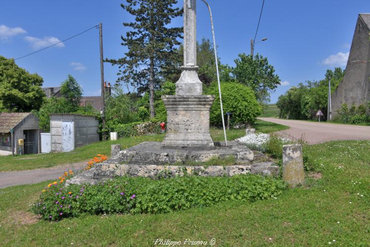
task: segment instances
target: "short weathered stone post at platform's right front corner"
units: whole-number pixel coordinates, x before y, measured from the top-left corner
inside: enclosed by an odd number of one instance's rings
[[[292,188],[304,184],[302,145],[283,146],[283,180]]]

